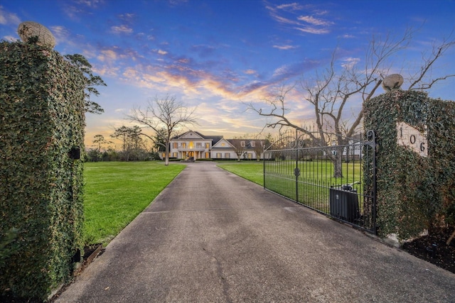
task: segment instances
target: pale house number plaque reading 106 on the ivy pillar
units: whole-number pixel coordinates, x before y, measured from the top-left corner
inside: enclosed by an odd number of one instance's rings
[[[422,157],[428,156],[427,132],[421,132],[405,122],[397,123],[397,143],[412,148]]]

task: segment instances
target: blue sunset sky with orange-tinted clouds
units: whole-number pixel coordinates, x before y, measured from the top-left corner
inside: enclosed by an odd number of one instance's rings
[[[314,110],[299,84],[321,75],[334,50],[337,68],[365,65],[373,37],[400,37],[417,28],[390,62],[390,72],[405,76],[434,43],[455,38],[455,1],[0,0],[0,39],[18,40],[23,21],[47,27],[56,51],[84,55],[107,84],[92,99],[105,112],[86,114],[90,148],[95,135],[112,140],[115,128],[132,126],[132,109],[166,96],[195,109],[198,124],[181,131],[252,137],[273,131],[263,130],[272,120],[248,110],[249,104],[265,112],[264,99],[294,86],[287,116],[311,125]],[[454,70],[451,49],[434,74]],[[454,84],[449,78],[429,95],[454,100]],[[349,106],[351,112],[360,109],[359,101]]]

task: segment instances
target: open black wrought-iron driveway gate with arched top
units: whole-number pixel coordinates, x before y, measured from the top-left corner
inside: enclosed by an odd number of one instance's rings
[[[264,150],[264,188],[376,232],[375,133],[287,132]]]

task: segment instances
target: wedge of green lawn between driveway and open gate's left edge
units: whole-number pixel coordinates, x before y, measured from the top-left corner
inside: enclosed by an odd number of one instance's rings
[[[217,166],[264,186],[264,162],[262,161],[218,161]]]

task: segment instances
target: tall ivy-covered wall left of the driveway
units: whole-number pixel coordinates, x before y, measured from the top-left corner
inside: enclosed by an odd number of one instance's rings
[[[45,300],[83,245],[73,158],[84,150],[85,82],[54,50],[21,42],[0,43],[0,78],[0,295]]]

